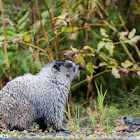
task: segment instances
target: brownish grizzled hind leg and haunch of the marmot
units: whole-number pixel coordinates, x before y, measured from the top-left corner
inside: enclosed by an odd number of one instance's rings
[[[34,106],[26,99],[7,100],[0,105],[0,121],[2,125],[9,130],[24,130],[29,129],[36,117]],[[5,125],[4,125],[5,124]]]

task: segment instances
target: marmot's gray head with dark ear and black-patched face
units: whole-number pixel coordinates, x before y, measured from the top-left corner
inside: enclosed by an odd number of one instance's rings
[[[42,71],[49,72],[48,74],[55,75],[55,77],[60,78],[60,80],[69,79],[72,81],[79,73],[79,65],[69,60],[54,60],[47,63],[42,68]]]

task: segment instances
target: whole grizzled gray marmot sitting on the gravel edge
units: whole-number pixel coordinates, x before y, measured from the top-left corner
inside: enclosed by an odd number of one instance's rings
[[[25,74],[0,90],[0,129],[28,129],[38,122],[43,129],[62,129],[66,99],[79,66],[54,60],[36,75]]]

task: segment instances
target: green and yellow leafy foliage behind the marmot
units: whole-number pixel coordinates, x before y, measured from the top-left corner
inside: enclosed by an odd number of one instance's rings
[[[140,90],[133,91],[140,86],[140,1],[44,2],[51,18],[43,1],[38,0],[37,7],[35,0],[2,0],[10,69],[5,58],[5,30],[0,13],[0,86],[4,86],[10,80],[10,75],[14,78],[28,72],[34,74],[50,61],[45,52],[37,51],[39,42],[39,47],[48,54],[47,48],[52,51],[49,56],[53,59],[70,59],[83,67],[79,80],[73,83],[77,84],[72,88],[70,95],[73,100],[79,103],[88,101],[95,91],[96,81],[97,84],[103,85],[103,90],[108,90],[107,103],[120,103],[121,100],[127,102],[129,107],[136,103],[136,107],[139,108]],[[32,12],[32,6],[35,14]],[[54,22],[58,54],[53,32],[47,33],[49,43],[43,35],[37,8],[46,32],[52,29],[51,19]],[[85,80],[87,77],[89,79]],[[82,80],[85,82],[81,83]],[[94,95],[96,98],[96,94]],[[130,103],[130,100],[133,103]]]

